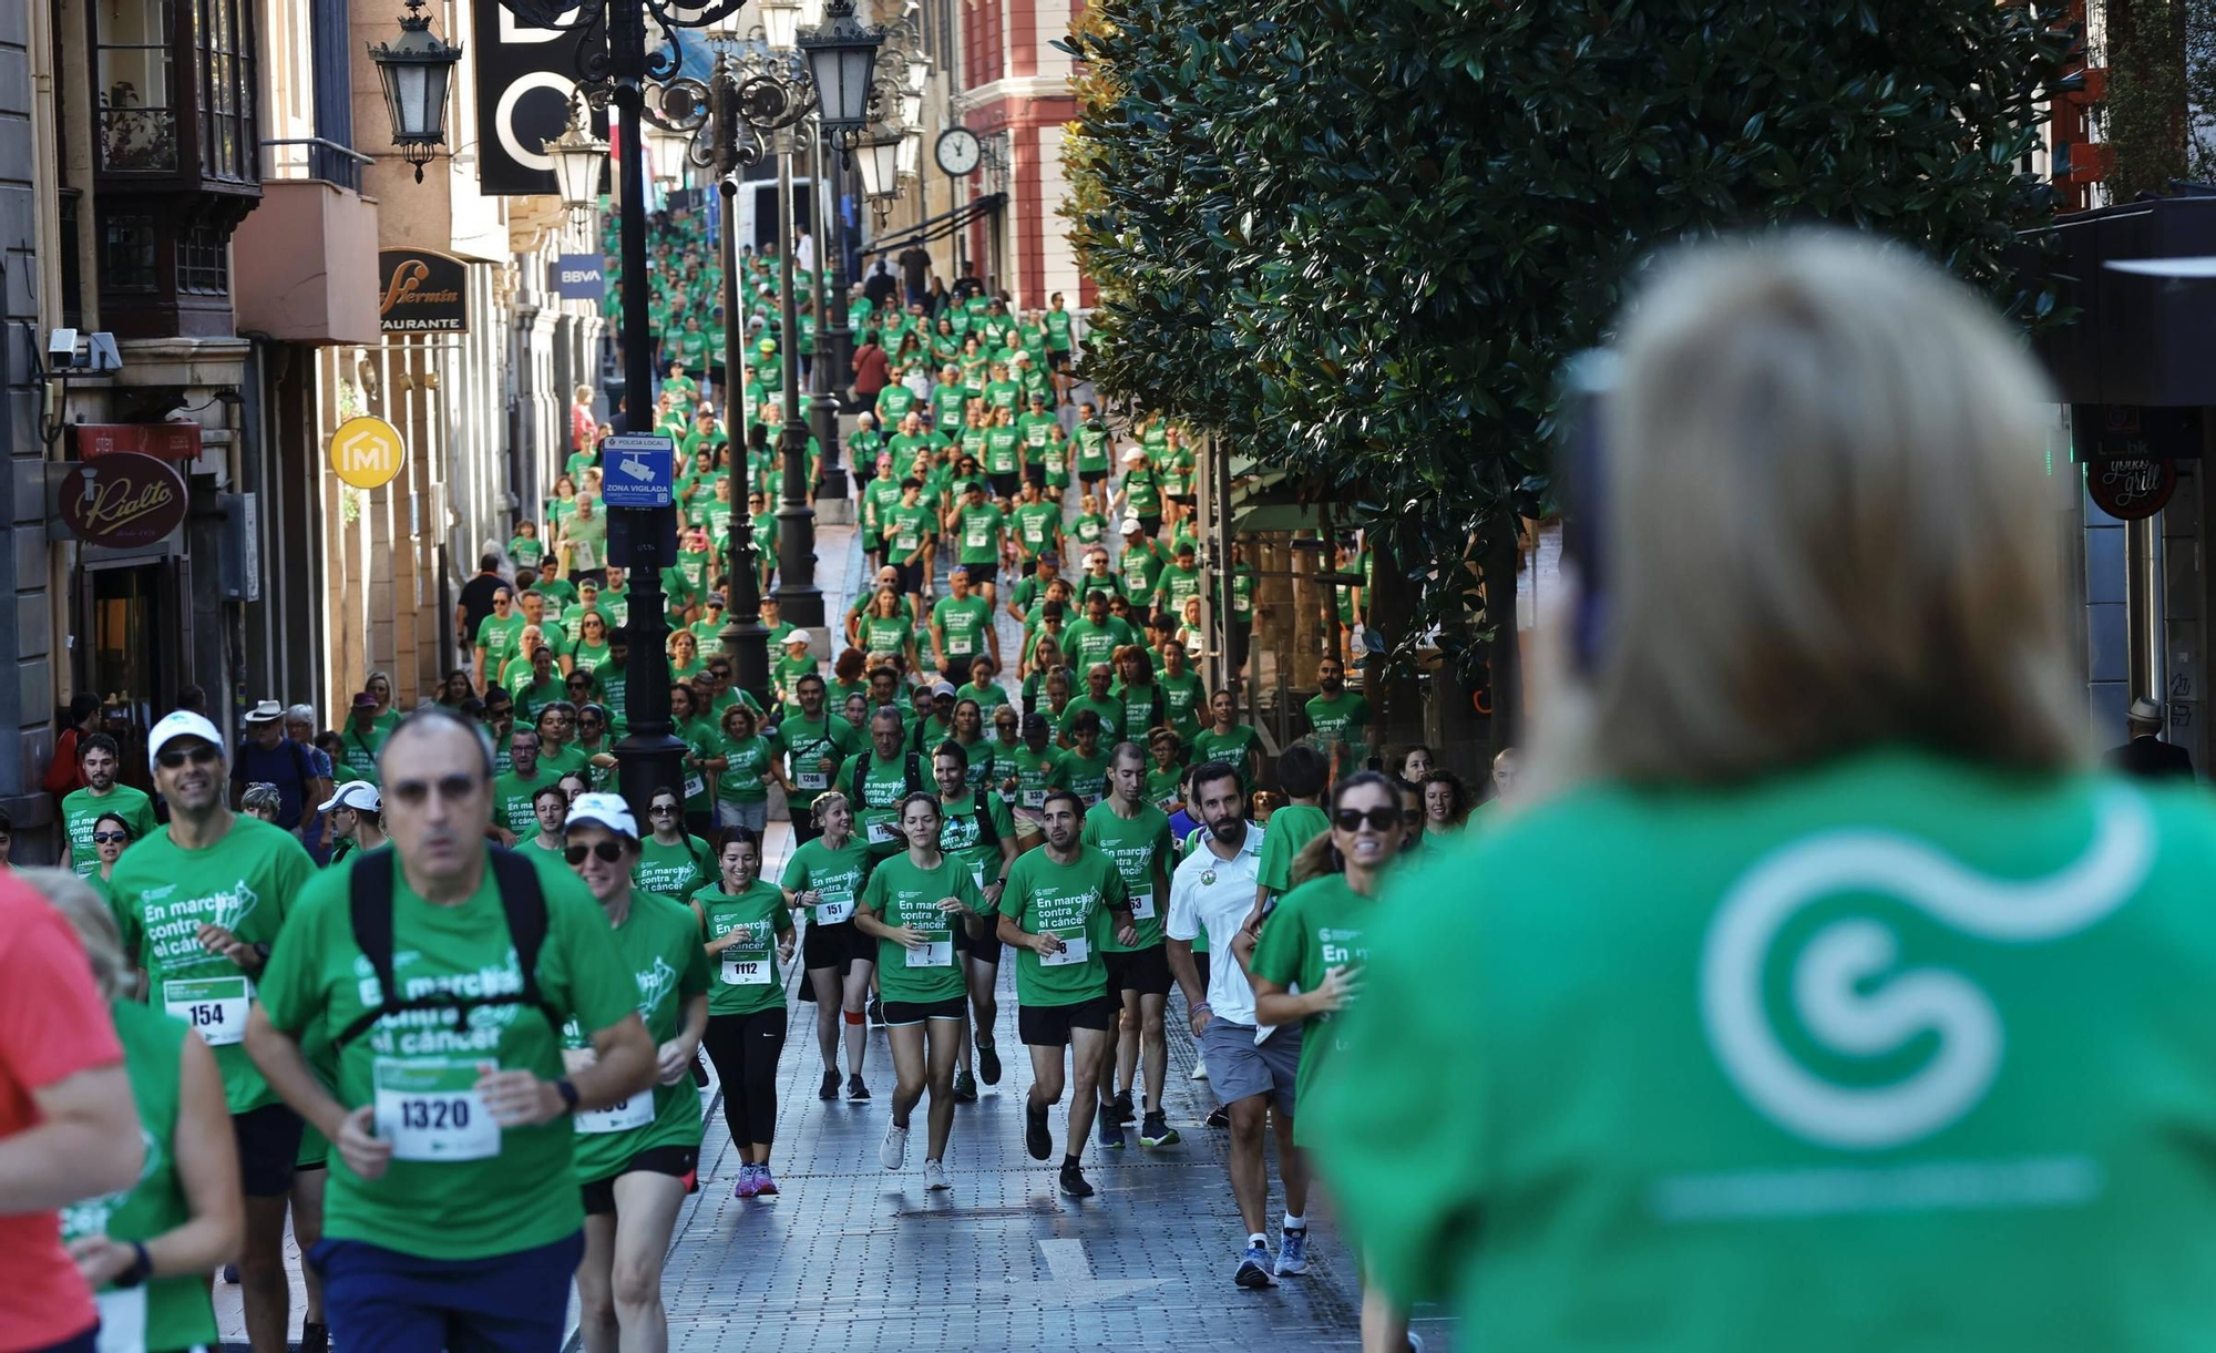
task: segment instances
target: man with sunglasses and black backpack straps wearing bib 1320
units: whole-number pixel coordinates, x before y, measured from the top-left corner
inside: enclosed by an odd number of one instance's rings
[[[248,1031],[335,1147],[312,1253],[332,1344],[554,1353],[585,1253],[570,1116],[656,1080],[638,980],[561,858],[485,841],[476,725],[417,710],[381,770],[392,850],[306,887]],[[563,1065],[572,1018],[589,1067]],[[310,1027],[330,1031],[335,1091],[301,1056]]]

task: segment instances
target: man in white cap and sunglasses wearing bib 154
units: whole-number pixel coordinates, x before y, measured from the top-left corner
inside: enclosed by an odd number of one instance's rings
[[[266,723],[284,732],[277,719]],[[204,716],[164,716],[146,754],[168,825],[115,861],[109,892],[124,949],[146,974],[146,1003],[191,1025],[224,1071],[246,1191],[246,1337],[255,1353],[281,1353],[293,1304],[284,1218],[301,1122],[255,1069],[244,1038],[270,947],[315,861],[284,827],[230,810],[224,734]]]

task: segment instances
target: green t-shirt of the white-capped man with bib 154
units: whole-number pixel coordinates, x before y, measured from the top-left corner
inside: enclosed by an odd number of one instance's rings
[[[246,1056],[255,978],[204,949],[199,927],[222,925],[242,943],[275,945],[310,878],[315,861],[301,843],[246,814],[202,850],[184,850],[162,827],[131,843],[109,876],[124,952],[146,974],[146,1005],[182,1018],[215,1049],[233,1113],[275,1105],[277,1091]]]

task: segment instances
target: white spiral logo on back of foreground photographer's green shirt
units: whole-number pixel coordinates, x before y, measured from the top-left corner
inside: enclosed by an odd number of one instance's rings
[[[1828,832],[1782,847],[1724,896],[1702,952],[1700,1011],[1724,1074],[1777,1127],[1848,1151],[1926,1138],[1977,1107],[2001,1069],[2001,1014],[1963,974],[1897,971],[1899,938],[1870,916],[1824,925],[1793,963],[1793,1014],[1841,1058],[1895,1054],[1919,1036],[1937,1049],[1895,1085],[1833,1085],[1793,1060],[1764,1011],[1771,947],[1797,912],[1839,894],[1899,898],[1935,923],[1999,945],[2072,936],[2145,881],[2154,823],[2143,798],[2112,790],[2085,854],[2045,878],[1970,874],[1892,832]]]

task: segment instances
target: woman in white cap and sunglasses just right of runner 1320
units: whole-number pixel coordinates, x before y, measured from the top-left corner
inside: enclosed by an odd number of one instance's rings
[[[685,1202],[685,1178],[700,1164],[700,1091],[694,1056],[709,1023],[709,969],[700,920],[683,903],[632,883],[638,825],[614,794],[585,794],[570,807],[563,856],[607,916],[623,971],[638,983],[638,1016],[654,1038],[654,1085],[607,1109],[578,1111],[576,1178],[585,1193],[585,1258],[576,1266],[578,1322],[594,1353],[660,1349],[663,1255]],[[594,1062],[592,1042],[572,1018],[563,1065]],[[620,1275],[620,1286],[618,1286]]]

